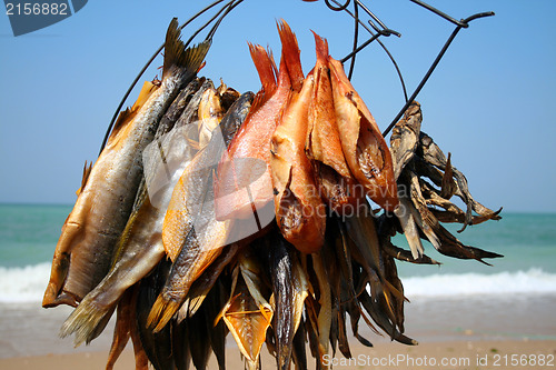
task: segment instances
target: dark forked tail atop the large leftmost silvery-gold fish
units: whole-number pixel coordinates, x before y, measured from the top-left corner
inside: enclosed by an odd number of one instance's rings
[[[165,63],[162,80],[175,66],[197,72],[210,48],[210,41],[205,40],[196,47],[187,48],[180,40],[181,29],[178,19],[173,18],[168,27],[165,43]]]

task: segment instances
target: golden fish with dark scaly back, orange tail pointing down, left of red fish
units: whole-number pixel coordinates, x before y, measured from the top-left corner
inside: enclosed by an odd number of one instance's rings
[[[193,158],[173,190],[168,209],[171,213],[166,214],[162,240],[165,246],[175,243],[177,248],[171,249],[179,250],[179,254],[149,314],[149,326],[155,327],[155,331],[168,323],[186,300],[193,281],[229,243],[230,220],[218,221],[215,217],[214,167],[244,122],[251,99],[252,93],[245,93],[229,109],[220,122],[219,134],[214,134],[207,147]]]

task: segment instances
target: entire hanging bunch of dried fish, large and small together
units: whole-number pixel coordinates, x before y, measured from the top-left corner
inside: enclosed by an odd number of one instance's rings
[[[86,164],[43,306],[76,307],[61,329],[76,344],[116,310],[107,369],[129,339],[137,369],[205,369],[211,352],[224,369],[228,333],[249,369],[264,343],[279,369],[307,369],[307,342],[326,368],[330,351],[351,357],[348,316],[365,346],[360,319],[415,344],[395,259],[437,263],[420,239],[450,257],[500,257],[440,224],[465,229],[499,211],[473,199],[450,156],[420,131],[419,104],[388,148],[326,40],[315,34],[305,76],[295,34],[285,22],[278,30],[279,68],[250,46],[262,88],[240,94],[195,77],[208,44],[185,49],[172,21],[162,80],[145,84]],[[410,251],[391,243],[396,232]]]

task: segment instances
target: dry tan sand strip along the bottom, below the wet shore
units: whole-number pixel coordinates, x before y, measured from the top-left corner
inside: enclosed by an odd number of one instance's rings
[[[417,347],[398,343],[378,343],[375,348],[355,344],[354,358],[339,353],[330,357],[335,369],[554,369],[556,341],[500,340],[425,342]],[[226,353],[227,369],[242,369],[244,363],[236,348]],[[0,360],[0,369],[103,369],[106,352],[80,352]],[[261,353],[262,369],[276,369],[274,358],[266,349]],[[308,368],[314,364],[309,362]],[[126,350],[115,369],[133,369],[133,353]],[[209,369],[218,369],[212,357]]]

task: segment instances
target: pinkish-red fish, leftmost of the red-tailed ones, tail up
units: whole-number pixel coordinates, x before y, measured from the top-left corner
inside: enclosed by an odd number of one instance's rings
[[[291,32],[282,23],[279,32]],[[270,140],[281,112],[290,99],[291,83],[282,50],[278,84],[275,83],[274,61],[262,47],[250,46],[251,58],[259,72],[262,90],[254,107],[225,152],[218,166],[215,184],[216,214],[225,219],[259,219],[261,228],[274,220],[265,210],[274,198],[269,170]],[[274,210],[274,207],[272,207]]]

